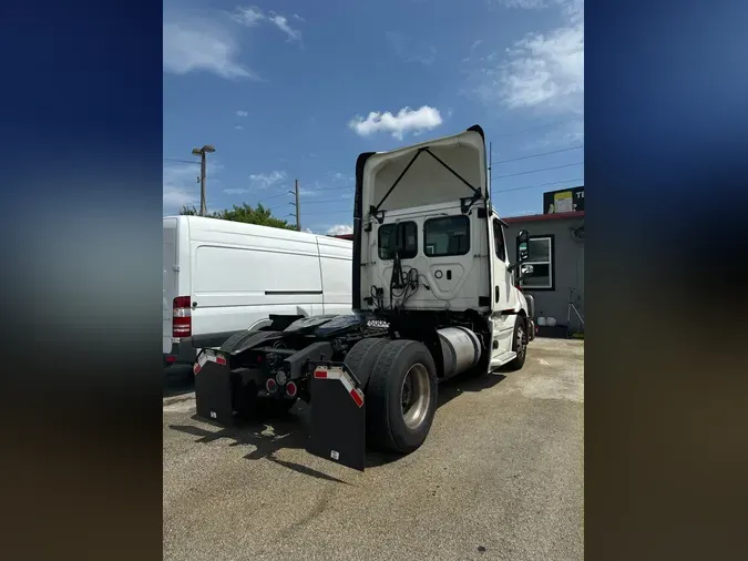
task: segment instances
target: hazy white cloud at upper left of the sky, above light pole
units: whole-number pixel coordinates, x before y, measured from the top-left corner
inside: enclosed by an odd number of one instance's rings
[[[167,12],[164,13],[163,32],[165,72],[203,71],[226,79],[258,79],[238,62],[238,43],[232,30],[218,19]]]

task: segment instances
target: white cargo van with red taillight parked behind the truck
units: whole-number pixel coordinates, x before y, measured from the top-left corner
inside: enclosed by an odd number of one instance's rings
[[[196,335],[270,314],[350,314],[352,243],[201,216],[164,217],[163,353],[193,364]]]

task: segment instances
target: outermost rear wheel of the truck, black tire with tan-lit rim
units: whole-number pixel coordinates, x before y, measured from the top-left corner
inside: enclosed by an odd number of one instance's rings
[[[366,399],[369,441],[398,453],[417,450],[437,411],[437,367],[426,345],[389,341],[371,370]]]

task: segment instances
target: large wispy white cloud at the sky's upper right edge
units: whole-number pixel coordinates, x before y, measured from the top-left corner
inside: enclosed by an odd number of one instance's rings
[[[583,114],[584,3],[523,0],[510,4],[534,9],[556,6],[565,24],[516,41],[498,65],[481,69],[477,93],[489,104],[499,102],[509,109]]]

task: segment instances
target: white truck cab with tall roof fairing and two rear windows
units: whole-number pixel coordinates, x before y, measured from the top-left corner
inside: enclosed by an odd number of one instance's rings
[[[489,370],[515,358],[518,320],[524,338],[534,324],[506,253],[506,225],[491,205],[486,164],[480,126],[359,156],[353,308],[464,319],[477,326]]]

